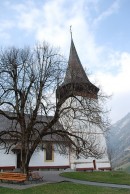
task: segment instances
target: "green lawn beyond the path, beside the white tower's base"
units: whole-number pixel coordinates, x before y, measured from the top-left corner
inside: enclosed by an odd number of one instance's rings
[[[130,185],[130,174],[121,171],[66,172],[62,173],[61,176],[78,180]]]

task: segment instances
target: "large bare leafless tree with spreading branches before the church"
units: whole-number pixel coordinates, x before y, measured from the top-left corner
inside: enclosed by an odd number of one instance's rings
[[[0,53],[0,115],[8,127],[0,132],[0,147],[9,152],[21,145],[21,170],[28,173],[32,154],[51,135],[59,151],[70,147],[77,155],[101,157],[97,127],[107,127],[103,99],[77,95],[55,96],[66,68],[64,58],[47,43],[30,48],[9,48]],[[76,105],[76,106],[73,106]],[[79,122],[80,121],[80,122]],[[95,134],[95,135],[94,135]],[[100,150],[100,151],[99,151]]]

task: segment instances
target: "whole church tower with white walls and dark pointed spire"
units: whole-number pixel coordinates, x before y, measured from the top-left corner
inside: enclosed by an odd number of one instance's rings
[[[93,125],[93,122],[91,124],[89,123],[89,119],[87,120],[87,108],[84,109],[82,106],[87,100],[89,102],[89,99],[92,100],[94,104],[98,103],[98,92],[99,88],[89,81],[80,62],[71,32],[70,53],[65,78],[56,91],[57,100],[63,101],[62,107],[67,110],[66,114],[62,112],[60,122],[65,130],[70,130],[71,133],[78,135],[81,138],[83,137],[85,142],[87,142],[88,145],[91,145],[90,149],[88,146],[84,150],[88,157],[87,159],[83,157],[76,159],[77,150],[75,150],[75,152],[70,150],[70,166],[72,169],[87,170],[91,168],[94,170],[99,167],[110,168],[106,152],[104,152],[104,156],[101,160],[96,160],[95,155],[93,155],[93,153],[97,153],[96,149],[98,146],[96,145],[99,145],[99,149],[102,149],[103,145],[103,149],[105,150],[105,138],[103,133],[101,133],[101,130],[98,129],[98,126]],[[91,108],[90,114],[92,115],[92,118],[98,118],[96,117],[95,112],[91,112]],[[70,138],[74,140],[74,137]]]

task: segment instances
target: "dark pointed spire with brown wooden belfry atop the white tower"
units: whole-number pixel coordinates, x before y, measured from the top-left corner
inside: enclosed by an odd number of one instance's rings
[[[99,88],[93,85],[80,62],[73,39],[71,38],[70,55],[64,82],[57,88],[58,99],[82,96],[97,99]]]

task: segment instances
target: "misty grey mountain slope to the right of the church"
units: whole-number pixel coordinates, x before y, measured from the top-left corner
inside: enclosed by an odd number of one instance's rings
[[[113,166],[130,169],[130,113],[110,127],[107,144]]]

